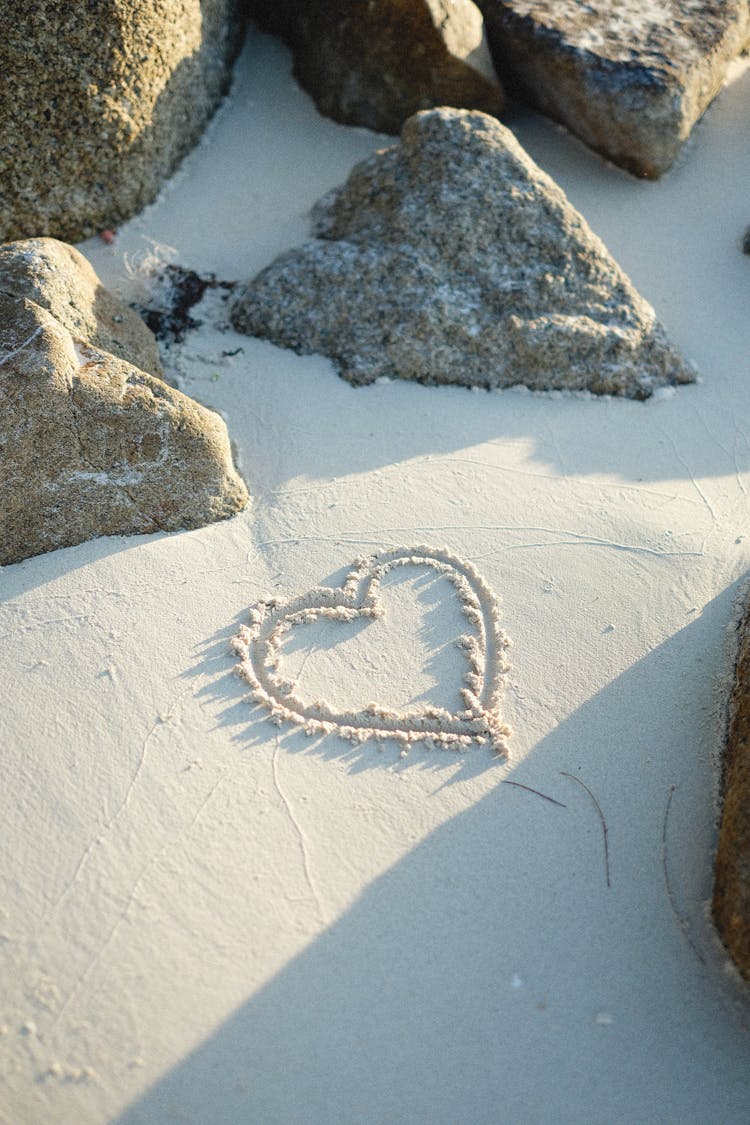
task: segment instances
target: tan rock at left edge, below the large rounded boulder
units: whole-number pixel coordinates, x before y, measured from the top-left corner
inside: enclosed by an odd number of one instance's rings
[[[224,422],[134,364],[153,339],[96,281],[71,246],[0,248],[0,565],[247,502]]]

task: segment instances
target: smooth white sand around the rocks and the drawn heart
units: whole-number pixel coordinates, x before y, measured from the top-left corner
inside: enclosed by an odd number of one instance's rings
[[[2,1120],[750,1119],[750,1005],[706,917],[750,567],[749,98],[741,76],[656,184],[508,122],[701,385],[353,389],[206,323],[181,386],[226,417],[252,510],[2,570]],[[323,120],[254,37],[161,200],[84,250],[110,284],[147,238],[245,278],[380,143]],[[501,597],[508,763],[310,739],[243,702],[229,641],[253,603],[424,542]],[[323,655],[341,705],[450,696],[454,608],[412,578],[409,628],[369,663]],[[603,810],[609,886],[566,774]]]

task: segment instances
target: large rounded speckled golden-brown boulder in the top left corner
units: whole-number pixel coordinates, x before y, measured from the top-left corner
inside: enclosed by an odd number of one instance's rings
[[[139,210],[227,88],[240,0],[3,3],[0,241]]]

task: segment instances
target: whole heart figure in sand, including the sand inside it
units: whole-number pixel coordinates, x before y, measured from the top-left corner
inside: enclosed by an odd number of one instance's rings
[[[415,572],[422,573],[423,586],[443,579],[437,592],[430,590],[432,597],[425,598],[418,587],[399,591],[404,573]],[[400,582],[394,583],[394,574]],[[392,600],[394,588],[400,598]],[[461,615],[452,630],[444,621],[451,603]],[[430,621],[436,614],[443,619],[437,628]],[[416,621],[407,640],[409,616]],[[359,627],[374,623],[385,628],[367,629],[362,638]],[[452,637],[436,646],[436,636],[446,631]],[[359,744],[392,739],[401,757],[414,742],[426,741],[432,748],[455,750],[473,742],[489,745],[507,758],[510,730],[500,708],[509,644],[500,629],[497,598],[471,564],[441,548],[396,547],[356,559],[341,586],[315,586],[291,600],[259,602],[232,647],[240,657],[237,672],[277,726],[291,722],[307,735],[337,735]],[[409,670],[394,683],[392,657],[399,648]],[[453,667],[437,670],[449,648]],[[318,670],[322,684],[310,694],[309,659],[319,666],[320,656],[331,649],[333,655]],[[417,677],[432,667],[432,683],[422,695],[404,700],[404,687],[413,694],[413,666]],[[385,676],[373,682],[377,670]],[[326,699],[329,684],[343,688],[343,703]],[[367,702],[354,703],[352,695],[364,684]],[[431,700],[434,688],[442,688],[444,698]]]

